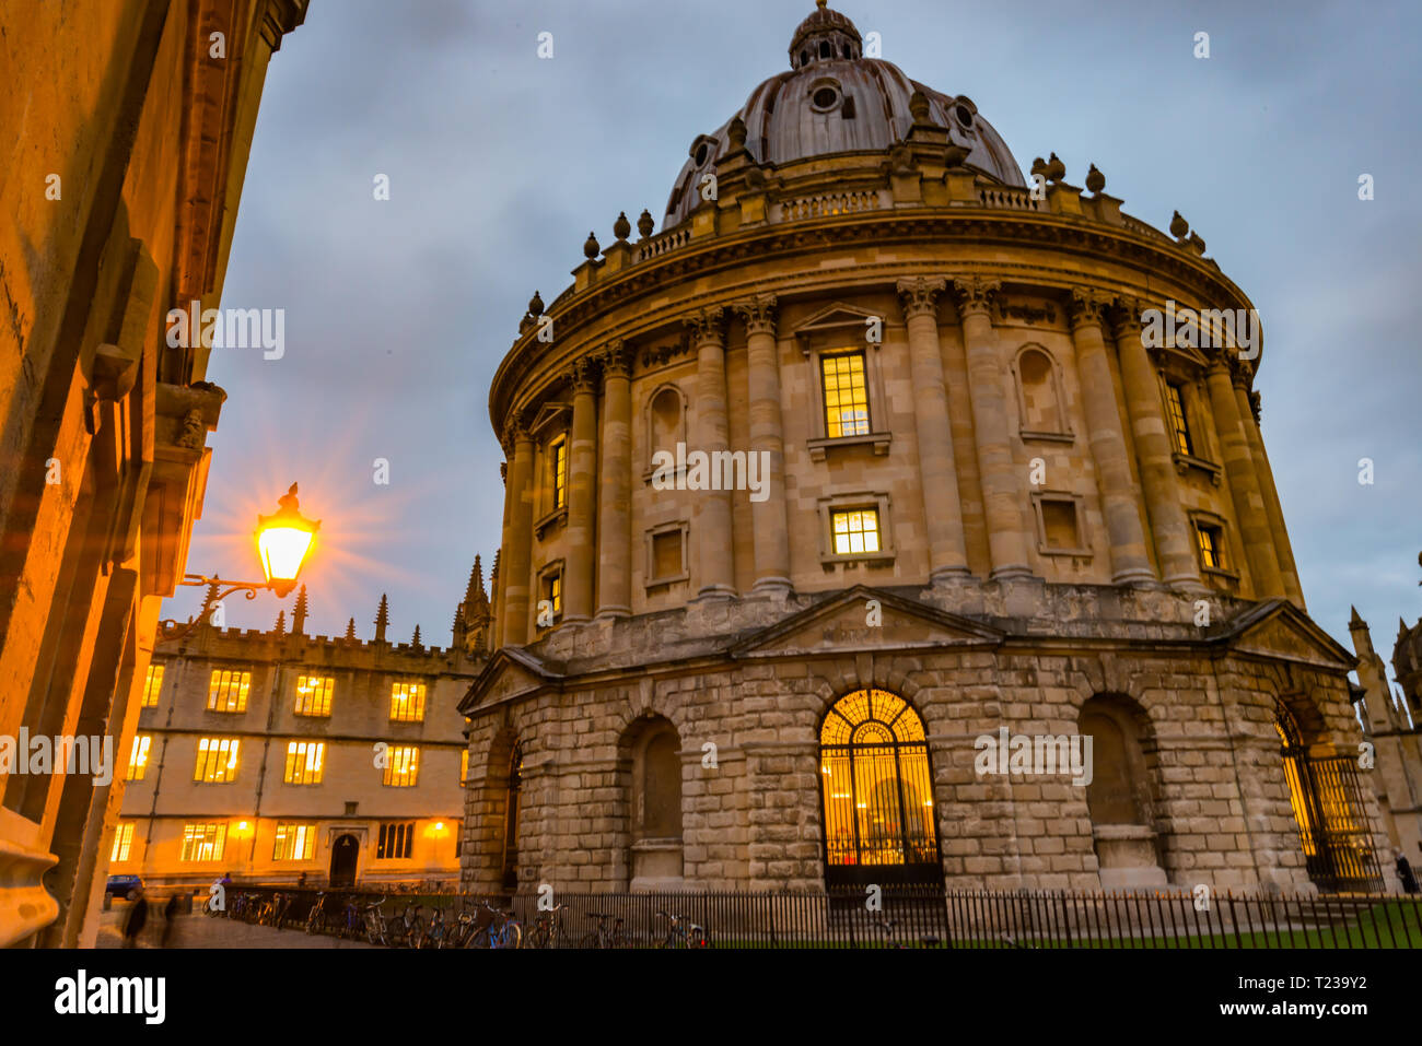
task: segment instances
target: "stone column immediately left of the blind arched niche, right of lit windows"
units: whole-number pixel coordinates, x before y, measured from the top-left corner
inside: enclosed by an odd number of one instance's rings
[[[1007,428],[1007,377],[997,351],[997,333],[988,304],[1001,289],[998,280],[957,279],[953,290],[963,318],[963,348],[968,361],[973,428],[977,433],[978,470],[983,476],[983,512],[988,530],[991,578],[1028,577],[1027,532],[1022,526],[1022,476],[1012,460]]]

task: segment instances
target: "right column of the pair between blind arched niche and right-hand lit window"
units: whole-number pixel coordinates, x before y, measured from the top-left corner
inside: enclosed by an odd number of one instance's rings
[[[1146,514],[1160,557],[1160,574],[1166,584],[1186,590],[1200,590],[1200,568],[1194,559],[1190,520],[1180,502],[1180,478],[1175,470],[1170,432],[1160,404],[1160,381],[1140,340],[1140,307],[1133,300],[1122,301],[1115,313],[1116,355],[1121,360],[1121,382],[1126,394],[1126,412],[1136,438],[1140,458],[1140,486],[1145,490]]]

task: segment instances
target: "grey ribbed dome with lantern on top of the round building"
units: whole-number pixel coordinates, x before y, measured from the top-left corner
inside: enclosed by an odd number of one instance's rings
[[[819,0],[795,30],[791,70],[754,91],[714,134],[698,135],[677,175],[661,227],[685,220],[702,202],[697,186],[727,152],[731,124],[745,122],[745,148],[758,163],[781,166],[809,156],[884,152],[913,126],[909,99],[921,91],[929,119],[968,149],[964,163],[1005,185],[1025,188],[1007,144],[963,95],[946,95],[910,80],[893,63],[863,57],[855,23]]]

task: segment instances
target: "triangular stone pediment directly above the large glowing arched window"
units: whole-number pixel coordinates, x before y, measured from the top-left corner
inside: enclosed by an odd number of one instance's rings
[[[731,648],[734,657],[776,657],[877,649],[931,649],[997,644],[1003,634],[971,618],[917,600],[855,586],[755,632]]]

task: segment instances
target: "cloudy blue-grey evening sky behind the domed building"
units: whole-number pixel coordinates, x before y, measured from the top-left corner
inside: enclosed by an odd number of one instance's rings
[[[1129,213],[1192,222],[1263,317],[1264,439],[1310,611],[1347,642],[1355,603],[1391,655],[1398,615],[1422,614],[1422,7],[835,6],[970,95],[1024,166],[1055,151],[1081,185],[1094,162]],[[297,480],[323,519],[307,631],[354,615],[368,638],[388,593],[392,640],[419,624],[447,645],[499,543],[488,389],[530,294],[552,301],[619,210],[660,222],[691,141],[788,68],[812,7],[313,0],[267,74],[223,297],[284,308],[286,354],[213,354],[229,399],[189,570],[255,576],[255,516]],[[277,608],[229,600],[228,624]]]

